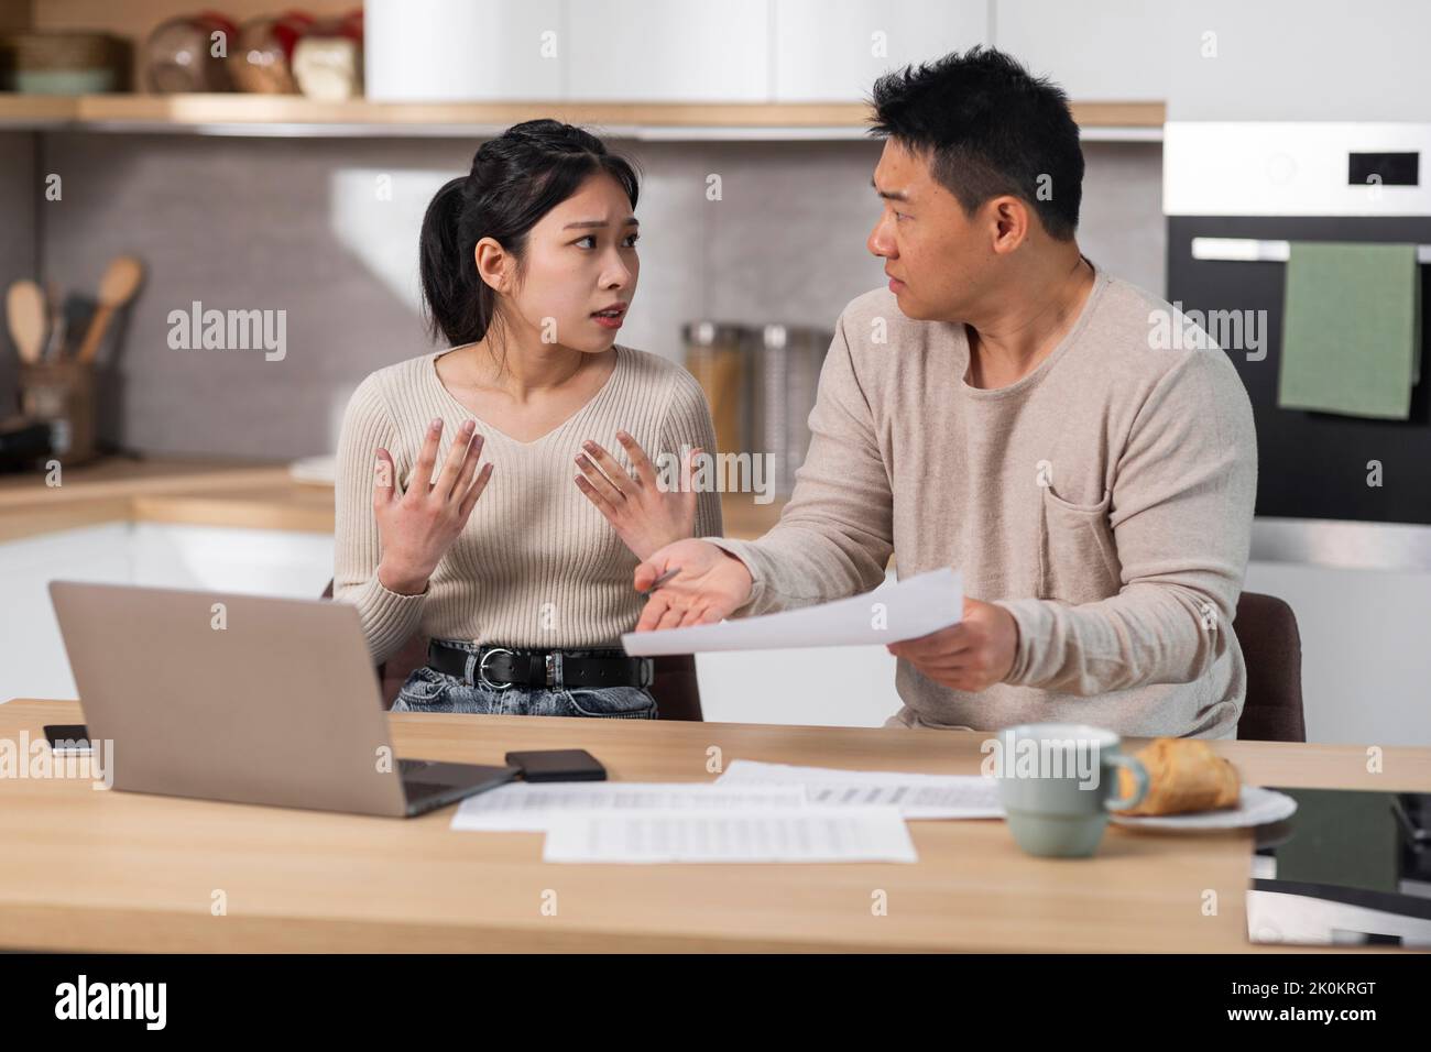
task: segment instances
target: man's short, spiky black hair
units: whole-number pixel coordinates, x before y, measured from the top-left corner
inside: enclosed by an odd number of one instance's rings
[[[990,198],[1027,202],[1069,240],[1083,198],[1083,149],[1063,89],[992,47],[906,66],[874,83],[871,135],[930,157],[930,173],[972,216]]]

